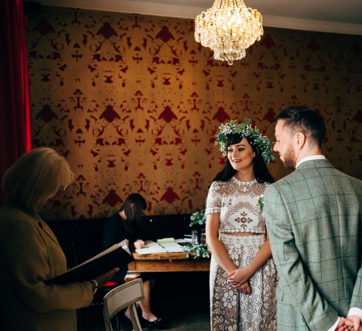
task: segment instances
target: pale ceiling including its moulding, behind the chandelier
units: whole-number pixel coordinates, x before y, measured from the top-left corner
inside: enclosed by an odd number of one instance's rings
[[[213,0],[27,0],[44,5],[194,19]],[[362,0],[245,0],[263,25],[362,35]]]

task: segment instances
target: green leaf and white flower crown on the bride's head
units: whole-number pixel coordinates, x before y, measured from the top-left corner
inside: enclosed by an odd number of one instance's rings
[[[236,120],[231,120],[229,123],[221,124],[218,128],[220,132],[216,135],[217,141],[215,145],[220,145],[220,151],[223,156],[227,155],[226,140],[228,134],[240,133],[240,136],[251,138],[251,143],[256,145],[261,152],[266,163],[275,160],[272,155],[272,143],[266,135],[262,135],[257,128],[252,128],[250,120],[245,119],[245,123],[237,124]]]

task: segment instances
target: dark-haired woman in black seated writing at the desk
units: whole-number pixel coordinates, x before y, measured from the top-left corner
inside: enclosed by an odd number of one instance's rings
[[[129,248],[131,251],[144,247],[145,242],[137,239],[137,234],[140,229],[142,211],[145,210],[146,207],[146,200],[138,193],[133,193],[128,196],[119,212],[116,212],[109,218],[104,225],[102,249],[105,250],[124,239],[129,240]],[[113,276],[112,281],[123,284],[125,282],[124,277],[127,270],[127,265],[121,267],[121,269]],[[151,279],[147,277],[147,274],[142,274],[142,280],[145,294],[145,299],[140,301],[142,317],[148,328],[155,327],[160,325],[162,319],[154,316],[150,310]],[[128,309],[126,310],[125,315],[130,318]]]

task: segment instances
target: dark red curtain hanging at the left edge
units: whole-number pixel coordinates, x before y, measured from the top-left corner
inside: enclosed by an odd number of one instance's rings
[[[31,149],[31,106],[22,0],[0,1],[0,176]],[[0,203],[5,199],[1,185]]]

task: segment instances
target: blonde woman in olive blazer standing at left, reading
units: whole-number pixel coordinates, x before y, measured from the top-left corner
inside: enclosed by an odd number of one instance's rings
[[[75,310],[116,270],[64,285],[45,281],[67,270],[57,238],[37,211],[50,208],[72,182],[67,161],[51,148],[24,154],[5,174],[0,208],[0,311],[4,330],[73,331]],[[98,284],[97,284],[98,283]]]

